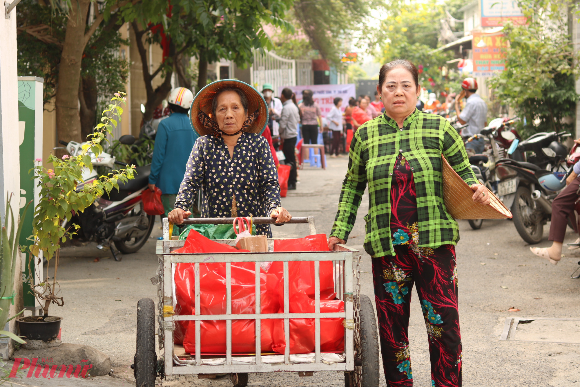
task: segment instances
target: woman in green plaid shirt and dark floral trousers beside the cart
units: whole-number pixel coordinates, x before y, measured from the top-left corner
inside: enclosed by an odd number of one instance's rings
[[[380,347],[387,386],[412,386],[407,328],[417,285],[429,336],[433,386],[461,386],[461,335],[455,244],[458,224],[443,202],[441,155],[489,203],[458,132],[443,117],[415,108],[418,71],[408,60],[381,67],[385,113],[358,128],[329,248],[346,243],[368,184],[365,250],[372,257]]]

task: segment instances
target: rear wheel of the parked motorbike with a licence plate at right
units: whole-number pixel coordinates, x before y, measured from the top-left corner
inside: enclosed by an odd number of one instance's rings
[[[542,241],[543,224],[530,189],[520,186],[517,188],[516,197],[513,200],[512,214],[513,224],[516,226],[521,239],[534,245]]]

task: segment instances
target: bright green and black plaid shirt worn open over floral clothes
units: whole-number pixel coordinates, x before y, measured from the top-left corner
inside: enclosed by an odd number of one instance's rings
[[[399,128],[386,114],[362,124],[350,145],[349,169],[342,183],[332,236],[348,239],[368,183],[368,214],[364,217],[364,248],[373,257],[394,255],[390,232],[391,176],[398,153],[411,166],[417,192],[419,247],[438,248],[459,241],[457,222],[443,202],[442,162],[467,184],[478,183],[465,146],[451,124],[436,114],[415,109]]]

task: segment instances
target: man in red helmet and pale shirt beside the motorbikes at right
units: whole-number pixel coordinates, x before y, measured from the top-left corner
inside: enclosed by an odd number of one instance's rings
[[[459,110],[459,101],[463,97],[467,98],[465,107],[461,113],[458,113],[458,121],[462,125],[467,124],[463,129],[463,137],[472,137],[487,126],[487,103],[477,94],[477,81],[472,77],[465,78],[461,84],[461,94],[455,97],[455,111]],[[467,142],[465,148],[467,153],[482,153],[485,149],[483,139],[473,139]]]

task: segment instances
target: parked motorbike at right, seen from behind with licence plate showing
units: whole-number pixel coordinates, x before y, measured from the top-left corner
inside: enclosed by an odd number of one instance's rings
[[[513,223],[524,241],[534,244],[542,240],[543,225],[552,215],[552,201],[566,185],[571,173],[561,144],[565,133],[538,133],[517,146],[531,152],[527,161],[502,159],[496,164],[499,177],[498,195],[512,208]],[[562,155],[564,153],[564,155]]]

